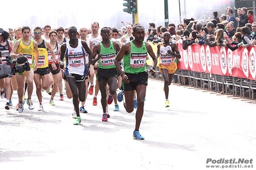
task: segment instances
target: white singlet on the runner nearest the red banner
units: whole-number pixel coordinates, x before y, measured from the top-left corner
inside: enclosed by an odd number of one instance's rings
[[[167,52],[168,50],[171,50],[173,52],[171,45],[172,45],[171,42],[166,47],[164,47],[163,43],[160,44],[160,64],[161,65],[171,65],[171,63],[175,62],[175,58],[173,57],[173,55],[168,54]]]

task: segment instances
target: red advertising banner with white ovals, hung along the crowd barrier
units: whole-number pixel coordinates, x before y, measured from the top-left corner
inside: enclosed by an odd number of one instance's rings
[[[179,69],[256,80],[256,46],[232,51],[225,47],[198,44],[183,50],[181,43],[177,45],[181,55]]]

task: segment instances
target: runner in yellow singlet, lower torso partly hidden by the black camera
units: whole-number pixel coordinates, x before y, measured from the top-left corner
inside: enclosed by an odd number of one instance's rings
[[[28,100],[30,100],[33,93],[34,70],[37,70],[38,62],[38,44],[34,40],[30,40],[30,27],[24,26],[22,27],[21,31],[23,38],[17,40],[17,42],[14,43],[11,56],[15,59],[19,58],[20,56],[26,56],[28,62],[30,63],[31,70],[24,71],[22,73],[16,73],[16,79],[18,84],[17,93],[19,97],[18,111],[20,113],[24,111],[24,101],[22,100],[22,97],[24,95],[25,76],[28,81]]]

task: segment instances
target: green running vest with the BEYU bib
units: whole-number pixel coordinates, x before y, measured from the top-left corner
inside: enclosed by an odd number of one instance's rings
[[[123,57],[124,72],[125,73],[141,73],[146,71],[146,59],[148,50],[145,42],[142,42],[142,47],[138,48],[130,42],[131,52]]]

